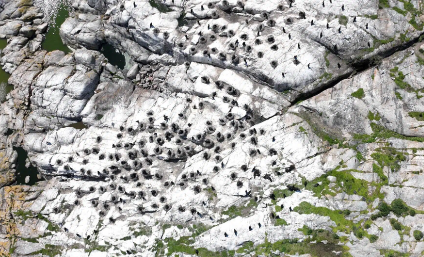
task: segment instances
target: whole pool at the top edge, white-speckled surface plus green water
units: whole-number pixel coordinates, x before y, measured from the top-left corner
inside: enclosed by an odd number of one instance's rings
[[[71,50],[62,42],[59,35],[60,26],[72,13],[72,2],[69,0],[37,0],[34,5],[43,9],[44,20],[49,23],[46,37],[41,44],[49,52],[60,50],[70,53]]]

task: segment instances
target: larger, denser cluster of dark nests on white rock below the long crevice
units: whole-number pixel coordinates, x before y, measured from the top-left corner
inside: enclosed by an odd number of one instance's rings
[[[209,79],[207,78],[202,78],[202,81],[209,83]],[[215,82],[215,85],[217,90],[226,92],[223,97],[225,102],[228,102],[233,106],[238,105],[237,97],[240,95],[240,92],[232,86],[228,86],[220,81]],[[199,102],[196,106],[192,103],[191,99],[187,98],[186,101],[188,106],[187,108],[200,110],[206,108],[206,103],[204,102]],[[156,126],[154,125],[155,118],[153,111],[146,112],[147,119],[142,122],[137,121],[138,125],[136,128],[120,127],[116,134],[117,141],[112,144],[114,152],[105,153],[103,149],[99,150],[99,147],[97,146],[92,149],[83,150],[83,155],[85,155],[86,158],[83,159],[82,166],[86,165],[89,159],[95,158],[93,155],[97,156],[99,160],[104,160],[104,163],[108,166],[103,168],[102,171],[96,171],[96,174],[93,174],[91,170],[85,170],[84,168],[81,168],[79,172],[81,172],[84,176],[109,177],[110,183],[108,186],[99,186],[97,188],[91,186],[85,191],[77,190],[77,197],[80,198],[84,194],[92,193],[95,190],[99,193],[112,191],[113,194],[111,198],[104,202],[99,202],[99,200],[95,199],[91,200],[91,204],[94,207],[100,208],[100,216],[104,216],[111,205],[117,205],[118,209],[121,211],[122,208],[119,205],[125,204],[128,200],[136,198],[142,199],[143,201],[147,201],[147,198],[150,198],[152,202],[148,207],[144,205],[137,206],[136,211],[139,213],[144,214],[156,212],[160,208],[165,211],[169,211],[172,208],[172,205],[167,202],[165,192],[161,192],[159,189],[150,189],[150,191],[142,190],[142,180],[166,180],[166,174],[164,177],[162,172],[153,174],[149,170],[149,167],[153,165],[155,161],[165,160],[164,156],[166,156],[168,160],[184,160],[189,156],[197,154],[190,145],[200,145],[203,147],[203,151],[199,154],[201,154],[202,158],[205,160],[216,163],[213,167],[213,172],[216,173],[225,166],[223,158],[220,156],[220,152],[225,150],[226,147],[234,148],[236,146],[235,141],[238,140],[246,140],[246,142],[250,144],[251,150],[249,154],[251,157],[258,157],[260,155],[277,155],[277,150],[272,148],[266,153],[261,153],[259,149],[256,149],[255,146],[258,144],[261,136],[265,135],[267,132],[265,129],[257,130],[256,128],[252,128],[255,124],[253,121],[253,111],[247,105],[244,106],[244,108],[247,111],[245,117],[236,119],[230,110],[230,112],[220,118],[218,122],[209,120],[206,121],[205,131],[192,137],[187,137],[192,124],[187,123],[186,127],[182,127],[177,123],[168,124],[169,117],[164,115],[164,122],[161,122],[158,126]],[[178,118],[183,122],[187,119],[184,113],[179,113]],[[147,135],[138,141],[133,140],[133,142],[128,142],[124,140],[124,138],[134,138],[140,132],[147,132],[145,133]],[[236,138],[237,140],[233,140]],[[97,143],[100,143],[102,138],[97,136],[95,140]],[[275,141],[275,138],[272,138],[272,141]],[[175,143],[175,149],[163,147],[165,142]],[[146,148],[153,149],[153,154],[151,152],[149,153]],[[77,155],[80,156],[79,153],[77,153]],[[56,164],[61,165],[65,170],[73,170],[70,167],[72,162],[74,162],[73,158],[68,157],[65,163],[58,159]],[[270,164],[276,165],[277,162],[274,160]],[[256,167],[249,168],[247,165],[242,165],[240,169],[243,172],[251,170],[254,178],[263,178],[272,182],[271,174],[267,173],[261,175],[261,171]],[[286,168],[285,171],[291,172],[292,170],[294,170],[294,166]],[[277,175],[281,175],[281,173],[278,173]],[[233,172],[230,174],[230,179],[236,181],[238,179],[238,175]],[[211,190],[215,191],[213,186],[208,185],[208,179],[205,176],[202,176],[199,170],[196,172],[183,173],[175,182],[169,180],[163,181],[163,188],[161,189],[166,190],[173,186],[179,186],[180,188],[185,189],[189,186],[189,184],[192,185],[192,190],[195,194],[200,193],[205,187],[209,186]],[[243,186],[243,181],[238,180],[236,185],[238,188],[241,188]],[[126,190],[126,188],[130,189]],[[251,192],[246,190],[245,197],[251,196]],[[74,204],[78,205],[79,200],[75,200]],[[203,202],[203,205],[206,205],[206,203]],[[186,211],[185,206],[177,206],[176,208],[180,212]],[[190,212],[193,215],[197,214],[199,217],[204,215],[195,208],[191,208]],[[209,218],[213,220],[212,217],[209,216]],[[111,217],[110,221],[114,222],[115,220]]]

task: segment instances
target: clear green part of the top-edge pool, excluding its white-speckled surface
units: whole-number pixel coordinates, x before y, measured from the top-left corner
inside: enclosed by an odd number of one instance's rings
[[[60,4],[59,9],[56,10],[56,16],[51,16],[49,21],[49,29],[46,33],[46,37],[41,44],[41,47],[46,51],[60,50],[66,54],[70,53],[71,50],[62,42],[59,36],[60,26],[65,22],[66,18],[69,17],[71,10],[71,4],[64,1]]]

